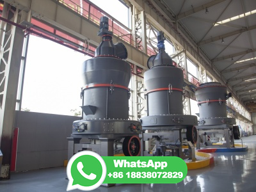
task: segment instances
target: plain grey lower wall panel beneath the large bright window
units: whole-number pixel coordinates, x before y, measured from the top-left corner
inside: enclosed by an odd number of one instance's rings
[[[16,172],[63,166],[72,122],[79,116],[16,111],[19,127]]]

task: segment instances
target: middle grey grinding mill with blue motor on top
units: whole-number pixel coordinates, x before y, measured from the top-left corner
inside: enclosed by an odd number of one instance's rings
[[[182,69],[174,67],[172,58],[165,52],[164,34],[157,33],[159,53],[148,58],[148,68],[144,75],[147,97],[147,116],[141,118],[143,129],[141,156],[192,157],[196,143],[197,118],[183,115],[182,97],[184,77]],[[182,132],[190,142],[183,142]],[[189,149],[182,145],[189,143]],[[195,159],[195,154],[193,154]]]

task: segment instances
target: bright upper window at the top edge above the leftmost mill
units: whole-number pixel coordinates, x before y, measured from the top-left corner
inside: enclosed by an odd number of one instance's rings
[[[131,14],[129,12],[129,7],[119,0],[90,0],[93,4],[99,6],[102,10],[107,12],[109,15],[117,19],[119,22],[131,28]],[[126,17],[125,17],[126,15]]]

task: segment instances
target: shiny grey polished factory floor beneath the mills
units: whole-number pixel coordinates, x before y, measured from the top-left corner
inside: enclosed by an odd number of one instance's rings
[[[93,191],[256,191],[256,136],[243,138],[243,141],[248,145],[248,152],[215,153],[213,166],[190,170],[179,184],[119,184]],[[68,180],[65,177],[66,169],[63,167],[12,173],[11,180],[0,181],[0,192],[66,191]]]

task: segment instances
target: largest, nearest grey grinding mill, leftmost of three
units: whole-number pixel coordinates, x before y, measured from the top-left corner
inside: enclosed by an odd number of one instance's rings
[[[124,61],[124,44],[113,44],[108,27],[108,17],[101,17],[98,35],[102,42],[95,57],[83,63],[83,120],[73,123],[68,160],[81,150],[92,150],[100,156],[122,152],[125,156],[140,156],[141,124],[129,120],[131,66]],[[89,142],[80,143],[82,138]]]

